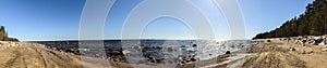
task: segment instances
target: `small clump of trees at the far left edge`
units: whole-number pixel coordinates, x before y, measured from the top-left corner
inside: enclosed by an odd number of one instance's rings
[[[0,26],[0,41],[19,41],[19,39],[8,37],[3,26]]]

